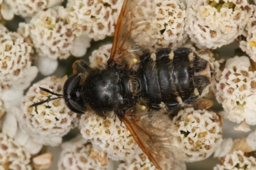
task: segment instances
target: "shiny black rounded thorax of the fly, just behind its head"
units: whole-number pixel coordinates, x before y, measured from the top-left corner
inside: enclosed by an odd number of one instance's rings
[[[115,69],[95,70],[83,83],[83,96],[89,108],[99,115],[114,111],[124,103],[122,85]]]

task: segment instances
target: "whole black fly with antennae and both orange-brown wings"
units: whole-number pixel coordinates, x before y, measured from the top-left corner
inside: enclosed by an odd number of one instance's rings
[[[140,36],[132,35],[139,35],[144,27],[145,32],[150,30],[150,19],[133,12],[146,3],[153,2],[124,1],[105,68],[90,68],[84,61],[76,61],[73,76],[65,81],[63,95],[41,88],[57,97],[32,106],[64,98],[75,113],[92,111],[106,118],[114,112],[156,168],[183,169],[181,153],[172,145],[170,115],[196,103],[215,71],[190,48],[159,48],[150,52],[145,46],[140,47]],[[154,17],[150,13],[147,16]],[[139,61],[136,69],[132,60]],[[78,74],[78,65],[85,72]]]

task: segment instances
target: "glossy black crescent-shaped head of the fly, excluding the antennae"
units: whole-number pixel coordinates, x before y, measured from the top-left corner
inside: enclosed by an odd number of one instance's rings
[[[75,113],[85,113],[85,103],[81,100],[80,77],[74,74],[65,81],[63,94],[68,108]]]

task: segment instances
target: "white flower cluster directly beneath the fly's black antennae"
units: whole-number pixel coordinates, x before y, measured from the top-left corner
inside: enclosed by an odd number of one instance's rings
[[[21,100],[21,111],[16,113],[20,128],[39,144],[60,145],[63,135],[78,126],[77,114],[68,109],[63,98],[31,107],[33,103],[56,97],[39,89],[40,86],[56,94],[62,94],[65,80],[66,77],[46,77],[33,84]]]

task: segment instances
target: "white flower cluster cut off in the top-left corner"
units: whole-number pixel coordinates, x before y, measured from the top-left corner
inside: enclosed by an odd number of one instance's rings
[[[4,19],[11,20],[14,15],[22,17],[32,17],[38,11],[61,4],[63,0],[3,0],[1,4],[1,14]]]

